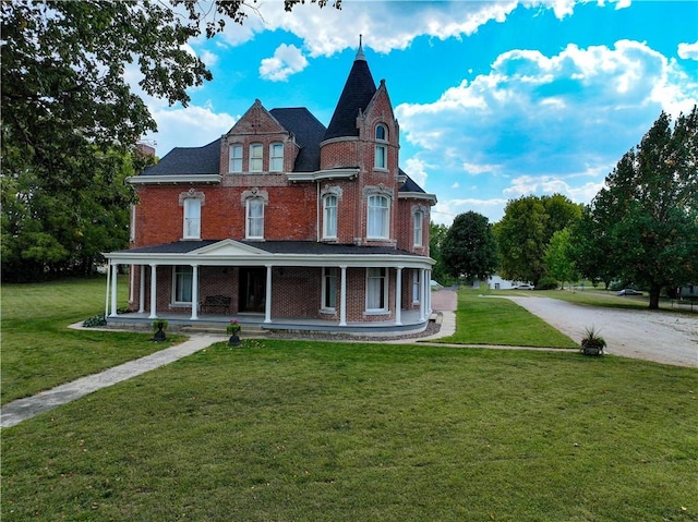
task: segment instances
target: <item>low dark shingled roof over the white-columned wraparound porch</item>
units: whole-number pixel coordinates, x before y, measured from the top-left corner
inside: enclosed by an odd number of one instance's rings
[[[203,240],[203,241],[176,241],[153,246],[141,246],[127,251],[119,251],[129,254],[188,254],[204,246],[209,246],[225,240]],[[268,252],[269,254],[304,254],[317,255],[414,255],[411,252],[393,248],[390,246],[357,246],[352,244],[326,244],[316,241],[238,241],[248,246]]]

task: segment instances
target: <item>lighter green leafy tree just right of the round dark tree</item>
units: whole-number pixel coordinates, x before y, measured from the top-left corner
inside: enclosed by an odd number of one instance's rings
[[[501,276],[538,284],[545,276],[545,247],[553,234],[574,224],[581,207],[561,194],[509,201],[495,224]]]

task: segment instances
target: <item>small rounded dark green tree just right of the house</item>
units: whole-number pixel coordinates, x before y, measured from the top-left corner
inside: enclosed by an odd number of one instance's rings
[[[456,216],[442,246],[442,258],[453,277],[488,279],[496,271],[497,248],[486,217],[468,211]]]

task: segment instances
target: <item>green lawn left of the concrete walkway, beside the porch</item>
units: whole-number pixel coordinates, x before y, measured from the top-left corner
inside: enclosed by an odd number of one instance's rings
[[[119,289],[125,305],[128,282]],[[163,349],[152,333],[67,328],[104,314],[105,291],[105,278],[2,286],[3,404]]]

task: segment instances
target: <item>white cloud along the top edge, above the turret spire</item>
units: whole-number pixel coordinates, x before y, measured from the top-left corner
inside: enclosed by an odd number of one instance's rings
[[[498,0],[454,2],[393,2],[345,0],[341,10],[330,4],[320,9],[314,3],[299,4],[289,13],[284,2],[260,2],[248,7],[244,24],[226,24],[222,34],[228,45],[237,46],[264,31],[287,31],[303,40],[310,57],[332,56],[358,46],[357,35],[364,35],[364,46],[377,52],[406,49],[418,37],[461,38],[476,33],[489,22],[502,23],[518,7],[551,9],[558,19],[573,14],[582,0]],[[599,1],[600,4],[604,2]],[[618,0],[616,9],[629,5]],[[341,31],[336,31],[341,27]]]

